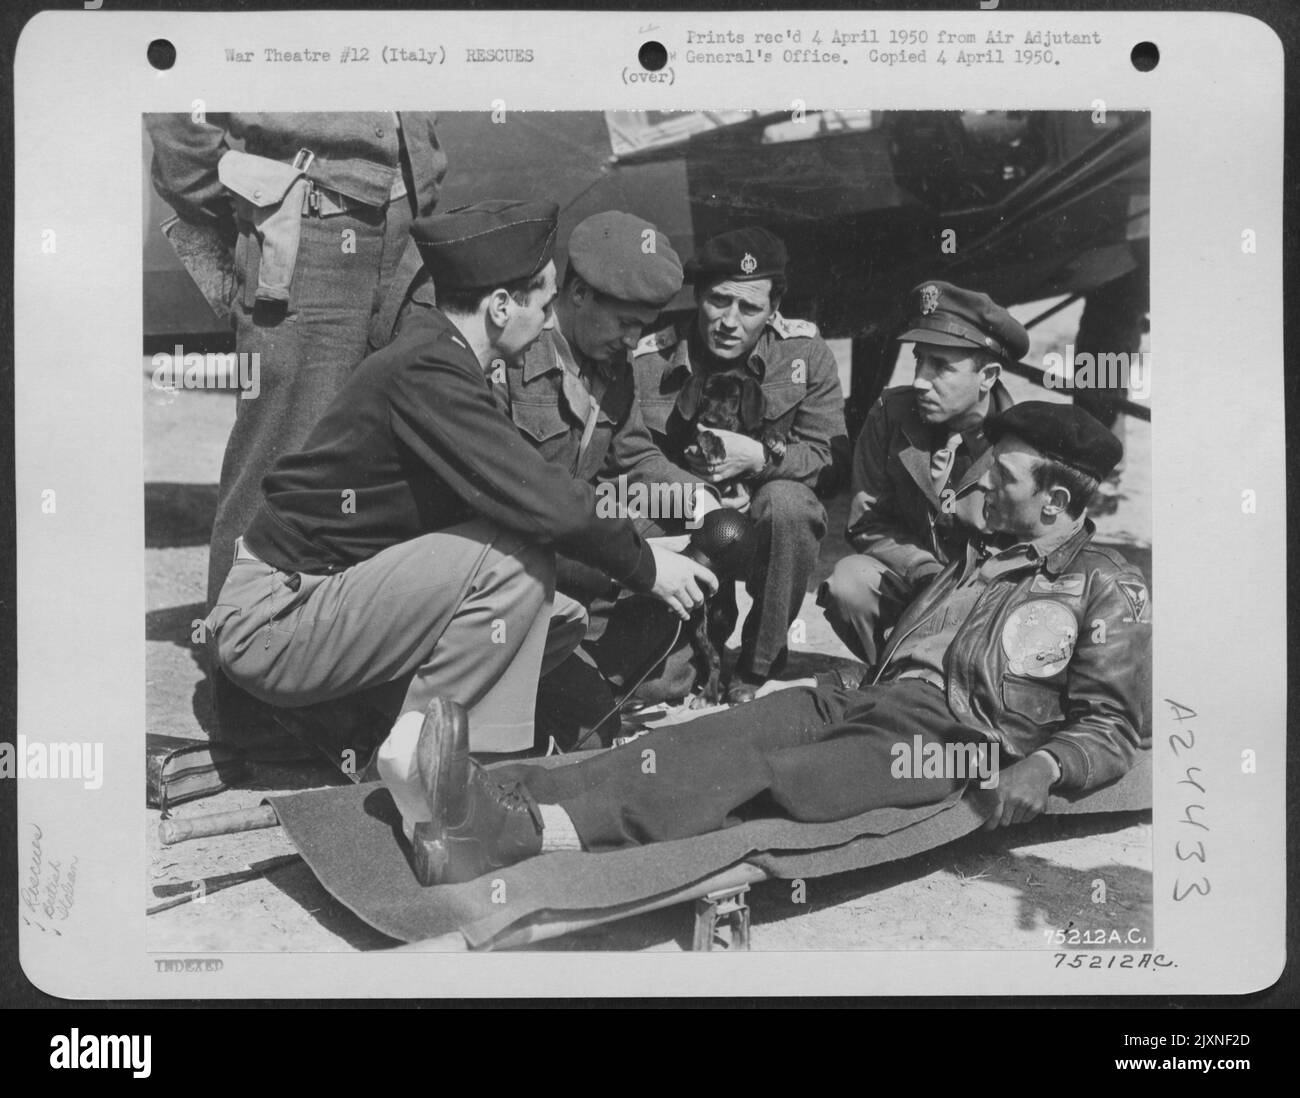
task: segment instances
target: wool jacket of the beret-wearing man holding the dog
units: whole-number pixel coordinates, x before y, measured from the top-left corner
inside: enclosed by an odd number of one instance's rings
[[[693,442],[689,428],[697,391],[690,361],[694,330],[692,314],[675,327],[647,335],[632,357],[646,426],[673,460],[680,460]],[[748,478],[749,483],[789,479],[815,489],[831,469],[833,447],[845,446],[848,438],[840,373],[831,348],[818,335],[815,324],[776,313],[742,366],[762,387],[763,425],[755,437],[785,442],[784,457],[768,463]]]

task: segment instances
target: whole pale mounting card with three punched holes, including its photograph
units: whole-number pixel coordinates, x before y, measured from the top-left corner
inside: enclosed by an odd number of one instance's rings
[[[35,18],[27,977],[1268,986],[1280,81],[1227,14]]]

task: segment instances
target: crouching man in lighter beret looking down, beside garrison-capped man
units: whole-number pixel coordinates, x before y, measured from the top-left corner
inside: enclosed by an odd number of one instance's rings
[[[625,499],[629,512],[637,499],[650,502],[630,516],[644,520],[642,534],[662,531],[651,518],[699,520],[719,505],[711,486],[670,461],[650,438],[628,363],[642,329],[658,320],[681,281],[681,260],[649,221],[619,211],[592,214],[569,235],[555,326],[521,361],[493,376],[498,400],[542,457],[575,479],[618,489],[614,496]],[[660,515],[673,507],[680,513]],[[589,608],[597,602],[607,609],[618,586],[606,572],[567,556],[556,561],[556,590]],[[612,704],[604,678],[575,651],[542,680],[538,741],[554,737],[567,747],[580,726]]]

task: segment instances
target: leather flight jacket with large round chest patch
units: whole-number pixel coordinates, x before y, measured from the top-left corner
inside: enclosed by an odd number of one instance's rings
[[[953,716],[997,741],[1013,760],[1049,751],[1061,765],[1062,789],[1114,781],[1150,743],[1147,581],[1118,552],[1096,544],[1095,533],[1086,520],[1046,556],[992,578],[944,655]],[[907,607],[874,682],[898,673],[894,652],[940,611],[963,564],[949,564]]]

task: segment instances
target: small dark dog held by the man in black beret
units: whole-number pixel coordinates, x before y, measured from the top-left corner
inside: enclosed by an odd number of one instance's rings
[[[688,438],[706,461],[722,461],[727,448],[710,428],[758,438],[763,428],[766,400],[762,386],[753,378],[736,374],[712,374],[692,379],[679,412],[688,421]],[[764,438],[764,440],[768,440]],[[784,439],[781,439],[784,443]],[[689,448],[689,447],[688,447]],[[744,498],[749,492],[740,478],[716,485],[724,499]],[[722,702],[722,650],[736,622],[734,581],[723,583],[712,599],[692,617],[690,648],[696,658],[697,681],[703,683],[692,699],[692,708],[716,706]]]

